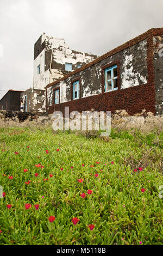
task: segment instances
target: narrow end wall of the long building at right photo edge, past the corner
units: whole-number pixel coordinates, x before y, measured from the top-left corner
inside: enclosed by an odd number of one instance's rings
[[[163,35],[154,36],[154,82],[156,114],[163,114]]]

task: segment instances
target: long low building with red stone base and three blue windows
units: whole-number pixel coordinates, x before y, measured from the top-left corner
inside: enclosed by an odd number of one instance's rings
[[[46,86],[48,113],[64,114],[70,107],[70,112],[126,109],[132,115],[146,109],[163,114],[163,28],[149,29],[58,78]]]

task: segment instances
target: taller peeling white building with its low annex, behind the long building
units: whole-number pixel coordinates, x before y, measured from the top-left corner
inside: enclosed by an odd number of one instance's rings
[[[45,112],[45,88],[97,56],[70,50],[64,39],[43,33],[34,45],[33,88],[21,94],[23,111]],[[24,110],[25,109],[25,110]]]

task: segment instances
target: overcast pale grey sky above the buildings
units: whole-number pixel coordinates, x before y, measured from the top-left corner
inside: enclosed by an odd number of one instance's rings
[[[162,11],[163,0],[0,0],[0,99],[3,89],[33,87],[34,43],[43,32],[100,56],[163,27]]]

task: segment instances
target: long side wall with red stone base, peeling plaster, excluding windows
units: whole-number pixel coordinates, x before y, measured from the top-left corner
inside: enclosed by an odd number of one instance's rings
[[[118,65],[118,89],[104,92],[104,69]],[[80,80],[80,99],[72,100],[72,81]],[[47,87],[47,107],[49,113],[55,110],[112,111],[126,109],[130,114],[140,112],[143,108],[154,112],[154,94],[147,84],[147,40],[122,51],[112,54],[103,60],[90,65],[58,83]],[[60,104],[53,107],[53,89],[60,88]],[[151,99],[151,104],[149,104]]]

